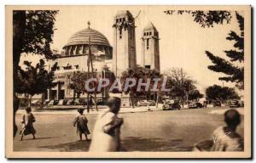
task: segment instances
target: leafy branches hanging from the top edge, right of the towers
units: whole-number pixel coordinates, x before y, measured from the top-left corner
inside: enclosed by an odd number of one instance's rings
[[[176,14],[190,14],[196,23],[201,27],[213,27],[215,24],[223,25],[224,22],[230,23],[232,18],[230,11],[224,10],[166,10],[164,13],[168,15]]]

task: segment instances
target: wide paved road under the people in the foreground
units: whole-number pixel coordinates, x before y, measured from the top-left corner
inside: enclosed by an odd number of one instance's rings
[[[128,151],[189,151],[193,144],[210,138],[212,131],[224,125],[226,109],[151,111],[120,114],[125,119],[121,129],[122,145]],[[243,109],[240,110],[242,113]],[[73,111],[35,114],[37,139],[27,136],[14,140],[15,151],[87,151],[90,142],[78,141],[73,127]],[[87,115],[90,132],[96,115]],[[20,121],[20,114],[17,115]],[[20,126],[19,126],[20,128]],[[243,136],[243,116],[238,132]]]

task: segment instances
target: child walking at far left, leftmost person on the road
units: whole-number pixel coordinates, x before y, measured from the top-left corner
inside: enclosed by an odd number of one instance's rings
[[[27,107],[26,108],[26,114],[23,114],[22,115],[22,129],[20,131],[20,135],[21,135],[21,138],[20,138],[20,141],[23,140],[23,136],[24,135],[28,135],[28,134],[32,134],[33,136],[33,139],[35,139],[35,134],[36,134],[36,130],[33,126],[33,122],[36,121],[34,115],[32,114],[31,112],[31,108],[30,107]]]

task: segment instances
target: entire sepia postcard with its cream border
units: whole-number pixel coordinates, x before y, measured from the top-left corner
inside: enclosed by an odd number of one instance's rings
[[[5,6],[7,158],[251,158],[251,6]]]

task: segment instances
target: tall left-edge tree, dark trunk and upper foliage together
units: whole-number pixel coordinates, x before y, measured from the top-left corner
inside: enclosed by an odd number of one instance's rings
[[[34,53],[51,57],[50,43],[54,33],[55,10],[13,11],[13,76],[14,76],[14,137],[17,132],[15,113],[19,98],[15,96],[20,85],[17,74],[21,53]]]

